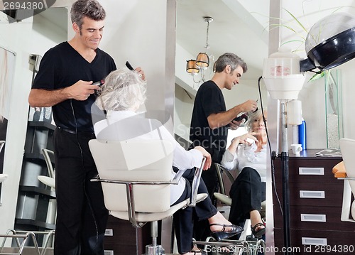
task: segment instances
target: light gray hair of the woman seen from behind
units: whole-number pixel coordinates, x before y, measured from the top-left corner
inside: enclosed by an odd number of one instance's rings
[[[106,111],[136,110],[146,102],[146,81],[138,73],[119,69],[105,78],[95,104]]]

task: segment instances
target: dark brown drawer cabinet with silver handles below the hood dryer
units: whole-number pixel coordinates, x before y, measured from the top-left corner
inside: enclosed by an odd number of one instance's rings
[[[290,233],[295,254],[354,254],[355,223],[342,222],[344,180],[334,178],[332,168],[342,161],[340,157],[316,157],[322,149],[305,150],[300,157],[290,153]],[[281,159],[275,158],[275,188],[283,201]],[[276,249],[282,249],[283,217],[273,190],[274,238]],[[349,251],[339,251],[346,249]],[[316,249],[330,249],[324,251]],[[311,249],[311,250],[310,250]],[[352,251],[352,252],[351,252]],[[276,254],[282,254],[282,252]]]

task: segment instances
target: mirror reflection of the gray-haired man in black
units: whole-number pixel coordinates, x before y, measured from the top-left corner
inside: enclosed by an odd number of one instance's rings
[[[238,129],[241,121],[234,119],[241,113],[255,111],[257,102],[248,100],[226,110],[222,89],[231,90],[239,84],[241,75],[248,69],[244,60],[234,53],[224,53],[214,63],[215,74],[211,80],[204,82],[197,91],[192,111],[190,141],[195,146],[204,147],[212,156],[212,166],[202,172],[202,178],[207,185],[209,197],[214,201],[214,192],[218,191],[218,179],[214,163],[220,163],[226,150],[228,129]],[[207,226],[196,229],[208,229]],[[203,230],[199,230],[199,232]],[[201,237],[198,237],[202,234]],[[207,233],[197,234],[197,239],[205,239]]]

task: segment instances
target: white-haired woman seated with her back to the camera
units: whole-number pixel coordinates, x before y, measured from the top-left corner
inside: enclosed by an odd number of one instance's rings
[[[185,170],[185,173],[178,185],[172,185],[170,204],[175,205],[190,197],[190,185],[195,167],[200,167],[202,158],[205,157],[207,161],[204,163],[203,170],[207,170],[211,166],[209,153],[200,146],[186,151],[175,141],[165,126],[149,126],[154,121],[147,122],[143,114],[137,113],[146,101],[146,82],[141,80],[136,72],[120,69],[111,72],[106,77],[102,90],[98,93],[99,97],[97,97],[95,104],[107,112],[107,119],[94,125],[97,139],[103,136],[106,138],[111,136],[114,139],[117,138],[114,133],[119,133],[121,139],[124,138],[124,140],[163,139],[171,141],[174,146],[173,168]],[[141,121],[137,122],[139,118]],[[129,125],[129,123],[133,123],[132,119],[135,119],[136,125]],[[146,123],[148,124],[146,125]],[[172,175],[175,175],[173,168]],[[203,180],[200,180],[198,192],[207,193]],[[207,254],[192,243],[193,215],[197,215],[197,220],[208,219],[212,237],[218,240],[232,237],[243,230],[225,219],[207,197],[204,201],[198,202],[196,207],[179,210],[173,217],[180,254]]]

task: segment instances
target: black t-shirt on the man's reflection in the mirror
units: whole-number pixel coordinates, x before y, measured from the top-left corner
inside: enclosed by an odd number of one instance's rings
[[[210,129],[207,117],[226,111],[222,90],[212,80],[204,82],[197,91],[192,111],[190,140],[192,146],[202,146],[219,162],[226,149],[227,126]]]

